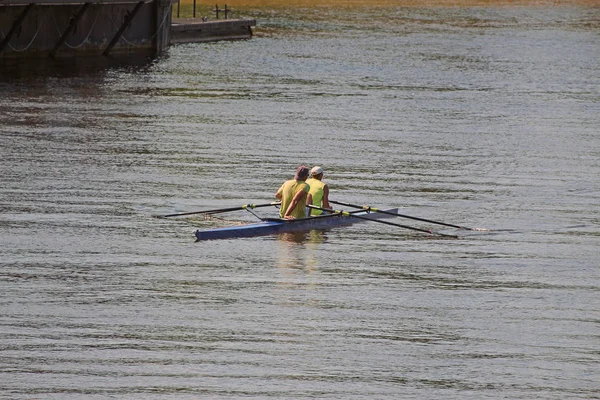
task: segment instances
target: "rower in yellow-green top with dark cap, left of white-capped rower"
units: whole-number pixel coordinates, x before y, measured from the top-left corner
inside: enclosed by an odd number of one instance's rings
[[[275,193],[275,197],[281,200],[281,209],[279,210],[281,218],[306,218],[306,200],[310,190],[306,184],[308,174],[308,167],[299,166],[294,179],[285,181]]]

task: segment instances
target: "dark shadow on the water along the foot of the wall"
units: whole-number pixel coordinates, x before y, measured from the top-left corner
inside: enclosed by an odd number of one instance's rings
[[[149,54],[77,58],[0,58],[0,83],[33,82],[45,78],[86,77],[109,70],[144,72],[160,58]]]

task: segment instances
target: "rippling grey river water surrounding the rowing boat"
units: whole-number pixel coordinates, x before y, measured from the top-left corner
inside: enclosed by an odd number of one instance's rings
[[[244,16],[249,41],[3,71],[0,398],[600,398],[600,10]],[[490,231],[155,218],[270,202],[299,164]]]

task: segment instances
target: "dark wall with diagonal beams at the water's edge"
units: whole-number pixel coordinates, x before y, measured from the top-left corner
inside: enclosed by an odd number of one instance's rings
[[[33,6],[29,7],[10,40],[4,40],[27,4]],[[0,58],[102,55],[137,5],[134,0],[92,2],[61,43],[72,19],[82,9],[82,1],[0,0]],[[108,54],[158,54],[169,45],[170,32],[170,0],[140,3],[131,24]]]

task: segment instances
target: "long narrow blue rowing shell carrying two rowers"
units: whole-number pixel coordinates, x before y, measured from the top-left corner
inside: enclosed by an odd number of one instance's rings
[[[392,208],[385,211],[397,213],[398,209]],[[208,229],[203,231],[196,230],[195,235],[197,242],[201,240],[233,239],[240,237],[273,235],[287,232],[305,232],[312,229],[330,229],[338,226],[348,226],[359,222],[365,222],[367,219],[393,217],[389,214],[373,213],[368,211],[353,212],[352,215],[356,215],[360,218],[354,218],[352,216],[345,216],[342,214],[325,214],[310,218],[292,220],[268,218],[255,224],[230,226],[226,228]]]

